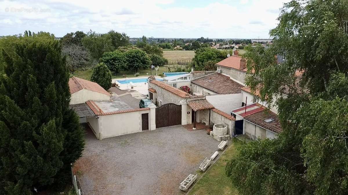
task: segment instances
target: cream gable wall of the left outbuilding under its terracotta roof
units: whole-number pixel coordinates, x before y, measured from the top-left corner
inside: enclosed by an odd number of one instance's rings
[[[85,103],[88,100],[108,101],[110,100],[110,95],[82,89],[71,94],[70,104]]]

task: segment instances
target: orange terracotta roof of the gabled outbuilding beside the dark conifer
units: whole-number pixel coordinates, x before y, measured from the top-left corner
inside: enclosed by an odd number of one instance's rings
[[[86,89],[89,91],[94,91],[97,93],[110,95],[110,93],[104,90],[104,88],[98,85],[98,83],[94,83],[92,81],[74,77],[74,76],[69,79],[69,88],[70,88],[71,94],[78,92],[82,89]]]

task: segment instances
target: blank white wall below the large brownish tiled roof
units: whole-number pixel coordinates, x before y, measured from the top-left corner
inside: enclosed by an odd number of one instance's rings
[[[235,94],[216,94],[205,97],[215,108],[231,114],[231,110],[242,107],[242,93]]]

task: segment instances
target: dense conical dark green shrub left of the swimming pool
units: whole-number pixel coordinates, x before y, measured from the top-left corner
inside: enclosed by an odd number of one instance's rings
[[[93,68],[90,80],[98,83],[105,90],[111,87],[111,71],[104,63],[99,63]]]

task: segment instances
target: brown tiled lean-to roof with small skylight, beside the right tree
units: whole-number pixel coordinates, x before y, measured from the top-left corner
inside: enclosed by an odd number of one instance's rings
[[[274,121],[264,121],[270,118],[273,118]],[[258,113],[254,113],[253,115],[247,116],[244,119],[275,133],[281,133],[283,131],[278,116],[276,115],[276,113],[271,112],[270,110],[264,110]]]

